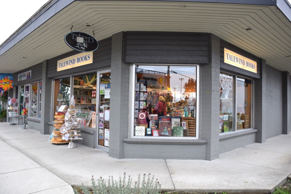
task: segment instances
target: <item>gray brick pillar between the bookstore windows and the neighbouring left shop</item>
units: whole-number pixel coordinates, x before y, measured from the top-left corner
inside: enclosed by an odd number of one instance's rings
[[[51,118],[51,99],[52,99],[52,79],[48,79],[46,75],[48,61],[42,62],[42,99],[40,110],[40,126],[41,134],[49,134],[48,122]]]

